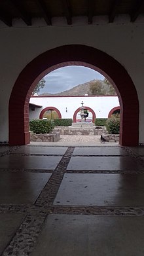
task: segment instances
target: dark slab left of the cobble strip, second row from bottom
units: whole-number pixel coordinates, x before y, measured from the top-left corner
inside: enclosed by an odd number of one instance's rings
[[[0,204],[35,202],[51,174],[0,172]]]

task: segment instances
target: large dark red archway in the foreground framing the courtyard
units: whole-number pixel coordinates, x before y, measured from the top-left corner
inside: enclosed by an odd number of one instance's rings
[[[28,105],[33,89],[47,73],[66,65],[84,65],[107,77],[115,87],[120,101],[120,145],[137,146],[139,101],[132,79],[117,60],[101,50],[85,45],[65,45],[48,50],[22,70],[9,101],[9,144],[29,143]]]

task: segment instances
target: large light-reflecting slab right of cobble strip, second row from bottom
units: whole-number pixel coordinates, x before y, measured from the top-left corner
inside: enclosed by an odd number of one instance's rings
[[[143,174],[65,174],[54,205],[143,207],[143,183]]]

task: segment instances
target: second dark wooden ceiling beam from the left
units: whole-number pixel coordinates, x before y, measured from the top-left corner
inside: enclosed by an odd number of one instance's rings
[[[16,8],[16,10],[19,12],[20,18],[24,20],[27,26],[31,26],[31,17],[25,12],[22,5],[20,5],[20,1],[10,0],[10,3],[12,3],[14,8]]]

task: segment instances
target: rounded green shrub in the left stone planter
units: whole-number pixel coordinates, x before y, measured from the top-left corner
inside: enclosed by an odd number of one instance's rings
[[[54,121],[43,119],[30,120],[29,128],[34,134],[49,134],[54,129]]]

